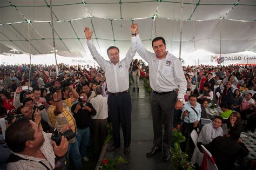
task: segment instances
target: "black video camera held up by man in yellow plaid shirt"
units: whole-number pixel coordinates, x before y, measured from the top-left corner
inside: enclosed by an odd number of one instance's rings
[[[64,79],[64,74],[65,73],[60,73],[57,75],[57,78],[55,80],[49,81],[48,83],[45,83],[45,87],[51,87],[50,91],[51,92],[55,92],[55,89],[52,88],[52,86],[54,85],[55,81],[59,81],[60,86],[62,89],[65,89],[65,87],[68,87],[69,85],[73,84],[73,81],[71,80],[71,78],[68,79]]]

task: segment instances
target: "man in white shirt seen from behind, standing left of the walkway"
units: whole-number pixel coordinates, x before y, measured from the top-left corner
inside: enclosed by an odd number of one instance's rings
[[[102,87],[97,86],[95,89],[96,97],[90,100],[96,115],[91,115],[92,119],[92,142],[95,152],[101,151],[104,140],[107,137],[107,98],[102,96]]]

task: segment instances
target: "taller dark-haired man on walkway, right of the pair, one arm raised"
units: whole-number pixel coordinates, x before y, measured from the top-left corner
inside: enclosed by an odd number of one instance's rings
[[[174,107],[180,110],[187,89],[181,62],[166,51],[165,39],[154,38],[152,47],[154,53],[145,49],[139,38],[138,24],[136,27],[137,52],[149,63],[151,93],[151,109],[153,118],[154,141],[153,147],[147,152],[151,157],[163,146],[163,161],[170,160],[170,144],[172,142],[172,123]],[[178,96],[176,89],[179,89]],[[164,125],[164,135],[162,130]],[[164,137],[164,138],[163,138]],[[162,139],[163,138],[163,139]]]

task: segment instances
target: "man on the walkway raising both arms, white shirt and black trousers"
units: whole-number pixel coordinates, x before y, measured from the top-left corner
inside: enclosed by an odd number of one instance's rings
[[[129,93],[129,67],[136,53],[136,29],[130,26],[132,32],[132,44],[126,57],[119,60],[119,49],[116,46],[110,46],[107,49],[107,55],[110,61],[105,60],[97,52],[92,43],[92,33],[88,27],[84,29],[87,45],[93,59],[104,70],[107,83],[109,117],[113,127],[113,145],[107,151],[113,151],[120,147],[120,123],[124,134],[124,153],[130,153],[131,144],[131,112],[132,104]]]

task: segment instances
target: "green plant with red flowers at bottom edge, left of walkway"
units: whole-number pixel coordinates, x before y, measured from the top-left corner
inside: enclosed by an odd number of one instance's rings
[[[118,158],[114,158],[114,159],[107,158],[107,159],[104,159],[102,161],[102,163],[98,166],[98,169],[100,169],[100,170],[106,170],[106,169],[107,170],[114,170],[114,169],[117,169],[117,165],[119,163],[127,164],[127,160],[125,160],[122,157],[118,157]]]

